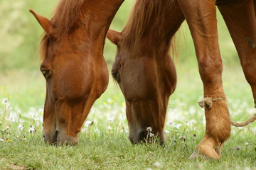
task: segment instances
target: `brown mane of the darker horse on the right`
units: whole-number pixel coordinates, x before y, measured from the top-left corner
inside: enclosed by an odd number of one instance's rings
[[[149,27],[152,17],[155,18],[154,25],[159,30],[159,35],[164,34],[165,11],[171,7],[174,0],[137,0],[132,8],[131,14],[124,30],[122,30],[122,44],[127,49],[136,46],[142,38],[144,31]]]

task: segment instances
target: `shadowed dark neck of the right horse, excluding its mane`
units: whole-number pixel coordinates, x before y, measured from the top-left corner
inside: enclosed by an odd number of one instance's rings
[[[178,2],[164,13],[164,21],[161,28],[156,22],[156,16],[151,16],[149,24],[144,30],[142,38],[139,40],[139,52],[156,53],[156,56],[162,57],[169,54],[171,39],[174,37],[181,23],[184,21],[184,16]]]

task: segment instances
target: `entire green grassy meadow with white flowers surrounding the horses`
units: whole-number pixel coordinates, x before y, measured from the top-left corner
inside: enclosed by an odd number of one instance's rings
[[[112,79],[85,120],[77,146],[44,143],[46,83],[37,52],[43,30],[28,10],[50,18],[56,3],[0,1],[0,169],[256,169],[256,123],[232,128],[221,159],[188,159],[203,137],[205,119],[197,103],[203,98],[203,86],[186,23],[176,38],[178,84],[169,100],[164,146],[130,144],[124,97]],[[110,28],[122,30],[133,3],[124,1]],[[230,116],[244,121],[256,112],[252,93],[219,13],[218,29]],[[107,40],[104,55],[109,70],[114,53]]]

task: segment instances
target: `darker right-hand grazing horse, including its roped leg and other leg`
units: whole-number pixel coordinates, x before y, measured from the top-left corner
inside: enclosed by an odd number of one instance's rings
[[[256,20],[252,0],[137,0],[124,30],[107,33],[118,49],[112,76],[124,94],[131,142],[144,140],[149,126],[161,141],[165,140],[167,102],[176,86],[170,40],[185,17],[203,81],[201,106],[206,115],[206,134],[191,158],[198,153],[221,157],[220,147],[230,137],[231,127],[222,83],[215,4],[238,50],[256,104]]]

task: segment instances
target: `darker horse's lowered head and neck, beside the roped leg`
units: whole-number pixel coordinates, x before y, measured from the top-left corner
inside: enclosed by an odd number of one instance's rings
[[[140,7],[134,9],[122,33],[107,33],[107,38],[118,47],[112,75],[124,94],[129,140],[146,140],[146,128],[151,127],[151,133],[164,142],[166,109],[176,88],[176,69],[169,49],[184,16],[178,3],[172,1],[139,0],[134,6]],[[172,17],[176,13],[179,15]]]

